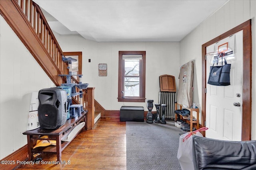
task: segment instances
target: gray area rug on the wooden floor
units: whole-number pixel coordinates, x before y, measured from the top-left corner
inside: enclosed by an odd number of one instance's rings
[[[127,170],[181,170],[177,158],[180,133],[173,123],[126,122]]]

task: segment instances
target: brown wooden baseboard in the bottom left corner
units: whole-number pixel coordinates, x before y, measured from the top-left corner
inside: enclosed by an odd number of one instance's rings
[[[1,162],[5,162],[5,164],[0,164],[1,170],[12,170],[19,166],[17,161],[24,161],[28,158],[28,145],[21,147],[20,149],[16,150],[12,154],[9,154],[5,158],[1,160]]]

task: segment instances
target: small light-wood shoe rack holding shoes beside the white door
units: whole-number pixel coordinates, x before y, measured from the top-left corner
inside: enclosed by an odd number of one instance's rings
[[[175,104],[175,110],[182,109],[182,108],[183,107],[181,104],[178,104],[178,103]],[[183,119],[182,115],[180,115],[180,119],[190,124],[190,131],[192,131],[193,123],[196,124],[196,129],[199,129],[199,109],[198,108],[184,108],[184,109],[188,109],[190,111],[190,120]],[[196,120],[192,119],[194,111],[196,112]],[[175,120],[177,120],[177,114],[175,114]]]

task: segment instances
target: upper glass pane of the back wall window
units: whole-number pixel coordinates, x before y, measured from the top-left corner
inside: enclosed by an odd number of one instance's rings
[[[138,59],[125,59],[125,76],[139,76],[140,60]]]

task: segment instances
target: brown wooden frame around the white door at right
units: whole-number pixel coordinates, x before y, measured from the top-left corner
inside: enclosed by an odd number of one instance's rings
[[[230,29],[202,45],[202,127],[206,120],[206,47],[239,31],[243,31],[243,95],[242,95],[242,141],[251,140],[252,127],[252,29],[251,20]],[[205,133],[203,133],[205,136]]]

